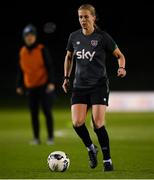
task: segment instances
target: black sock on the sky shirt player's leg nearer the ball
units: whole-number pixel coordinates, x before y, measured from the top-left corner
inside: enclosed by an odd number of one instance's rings
[[[78,136],[82,139],[84,145],[86,147],[90,147],[92,145],[92,140],[90,138],[88,129],[86,128],[85,124],[83,124],[82,126],[79,127],[74,127],[74,130],[76,131],[76,133],[78,134]]]

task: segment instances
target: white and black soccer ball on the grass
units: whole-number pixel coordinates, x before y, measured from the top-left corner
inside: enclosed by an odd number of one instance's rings
[[[70,159],[63,151],[54,151],[47,159],[48,167],[51,171],[64,172],[69,168]]]

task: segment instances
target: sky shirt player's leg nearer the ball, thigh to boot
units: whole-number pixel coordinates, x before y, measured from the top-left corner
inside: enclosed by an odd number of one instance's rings
[[[97,149],[92,143],[87,127],[85,126],[87,105],[86,104],[74,104],[71,107],[73,127],[78,136],[82,139],[86,146],[90,158],[90,167],[95,168],[97,166]]]

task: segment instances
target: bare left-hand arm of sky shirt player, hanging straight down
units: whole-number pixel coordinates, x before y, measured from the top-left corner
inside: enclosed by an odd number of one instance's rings
[[[64,61],[64,82],[63,82],[63,90],[67,93],[69,88],[69,78],[72,72],[73,67],[73,52],[67,51]]]

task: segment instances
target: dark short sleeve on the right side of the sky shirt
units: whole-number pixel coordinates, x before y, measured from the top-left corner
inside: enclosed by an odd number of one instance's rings
[[[108,34],[104,33],[105,49],[109,52],[113,52],[118,46],[113,38]]]

